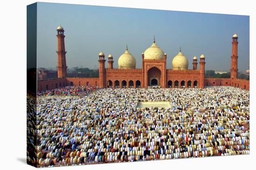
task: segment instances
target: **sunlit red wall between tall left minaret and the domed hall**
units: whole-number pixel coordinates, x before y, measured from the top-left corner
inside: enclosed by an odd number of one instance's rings
[[[68,77],[67,78],[67,84],[74,86],[99,86],[100,85],[100,80],[98,77],[95,78],[78,78],[78,77]]]

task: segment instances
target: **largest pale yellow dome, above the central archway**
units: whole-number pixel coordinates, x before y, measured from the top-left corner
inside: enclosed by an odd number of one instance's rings
[[[164,52],[155,44],[155,37],[153,44],[147,50],[144,51],[144,59],[164,59]]]

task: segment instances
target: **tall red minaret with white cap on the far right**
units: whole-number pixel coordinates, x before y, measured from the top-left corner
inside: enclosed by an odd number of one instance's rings
[[[231,54],[231,68],[230,68],[230,78],[231,81],[237,78],[237,44],[238,44],[238,37],[236,34],[232,37],[232,54]]]

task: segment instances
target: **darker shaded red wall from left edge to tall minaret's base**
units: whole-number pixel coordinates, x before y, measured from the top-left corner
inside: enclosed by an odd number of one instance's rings
[[[59,87],[67,86],[67,80],[65,78],[55,78],[37,81],[37,90],[54,89]]]

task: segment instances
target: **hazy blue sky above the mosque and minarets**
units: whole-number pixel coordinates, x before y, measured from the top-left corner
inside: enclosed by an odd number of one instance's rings
[[[167,53],[167,68],[182,47],[192,69],[194,56],[206,57],[205,69],[229,70],[232,35],[238,35],[238,69],[249,67],[249,16],[191,13],[106,6],[38,3],[37,65],[57,64],[56,28],[65,30],[68,68],[98,68],[98,54],[112,54],[114,67],[126,50],[141,68],[141,53],[152,43]],[[107,67],[107,62],[106,62]]]

